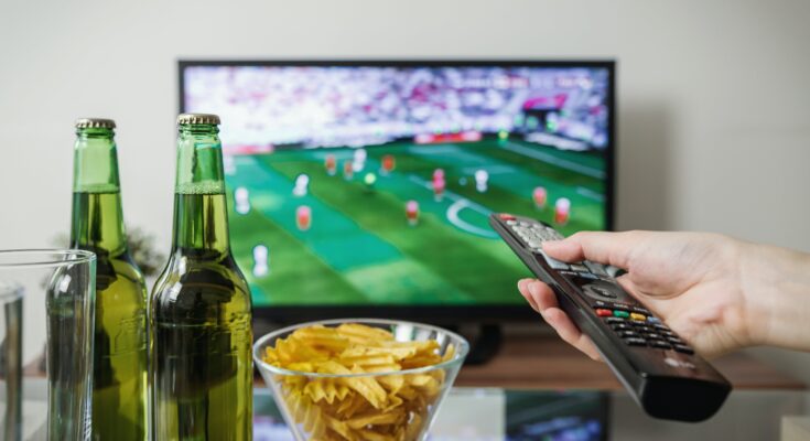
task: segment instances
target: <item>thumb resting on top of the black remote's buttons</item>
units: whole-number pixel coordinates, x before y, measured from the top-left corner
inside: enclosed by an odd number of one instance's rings
[[[581,232],[563,240],[543,243],[543,251],[564,261],[592,260],[627,268],[630,252],[646,238],[645,232]]]

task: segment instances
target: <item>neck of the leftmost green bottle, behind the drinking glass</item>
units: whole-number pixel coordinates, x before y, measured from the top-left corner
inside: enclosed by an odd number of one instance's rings
[[[76,135],[71,245],[118,255],[127,249],[127,236],[115,133],[86,128]]]

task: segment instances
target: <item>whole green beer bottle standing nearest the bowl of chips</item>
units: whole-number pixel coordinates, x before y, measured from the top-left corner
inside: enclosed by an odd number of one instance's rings
[[[177,122],[172,251],[149,315],[152,439],[250,440],[250,291],[228,243],[219,118]]]

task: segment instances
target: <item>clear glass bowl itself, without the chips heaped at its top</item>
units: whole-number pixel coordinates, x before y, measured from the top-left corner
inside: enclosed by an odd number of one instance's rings
[[[431,366],[345,375],[288,370],[262,359],[268,347],[276,347],[277,340],[287,338],[295,330],[343,323],[390,331],[397,342],[434,340],[440,356],[444,357],[451,345],[454,353]],[[441,327],[393,320],[341,319],[301,323],[267,334],[253,345],[253,359],[298,441],[421,441],[468,351],[464,337]],[[382,389],[378,389],[380,386]],[[386,392],[386,398],[374,407],[365,398],[371,394],[369,387]]]

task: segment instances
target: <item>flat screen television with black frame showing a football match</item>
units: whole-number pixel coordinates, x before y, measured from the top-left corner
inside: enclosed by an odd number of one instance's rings
[[[611,229],[612,61],[181,61],[255,315],[532,318],[492,212]]]

